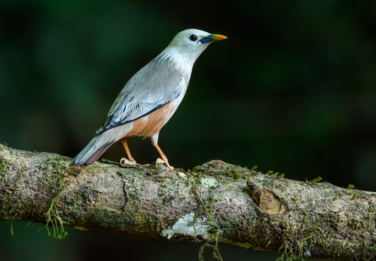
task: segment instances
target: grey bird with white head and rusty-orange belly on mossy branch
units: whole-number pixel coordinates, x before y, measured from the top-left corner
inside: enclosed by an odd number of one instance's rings
[[[127,138],[143,137],[150,138],[161,155],[156,167],[162,163],[174,169],[158,146],[159,131],[182,101],[196,59],[209,44],[226,38],[198,29],[177,33],[166,49],[130,78],[103,125],[70,166],[85,168],[118,140],[123,143],[128,156],[128,159],[121,158],[120,164],[137,164],[130,154]]]

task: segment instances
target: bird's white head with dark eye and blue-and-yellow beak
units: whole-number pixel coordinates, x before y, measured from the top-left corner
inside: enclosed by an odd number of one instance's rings
[[[193,59],[194,62],[211,42],[226,38],[226,36],[210,34],[202,30],[187,29],[178,33],[167,49],[174,49],[175,52]]]

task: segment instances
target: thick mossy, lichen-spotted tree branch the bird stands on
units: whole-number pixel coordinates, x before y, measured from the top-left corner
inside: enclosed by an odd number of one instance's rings
[[[284,258],[373,259],[376,193],[299,182],[223,161],[192,171],[109,164],[81,169],[54,153],[0,145],[0,220],[132,237],[207,240]],[[108,162],[108,161],[107,161]]]

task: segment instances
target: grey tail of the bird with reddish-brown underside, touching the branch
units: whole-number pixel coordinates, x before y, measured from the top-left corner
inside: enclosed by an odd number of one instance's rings
[[[102,132],[101,134],[94,137],[85,149],[80,152],[76,158],[73,159],[69,166],[77,166],[85,168],[90,165],[103,154],[116,140],[109,137],[109,133]]]

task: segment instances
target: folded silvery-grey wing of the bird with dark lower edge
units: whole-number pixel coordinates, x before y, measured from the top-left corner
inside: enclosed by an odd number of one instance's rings
[[[182,74],[173,62],[157,56],[127,82],[96,134],[141,118],[176,99],[181,80]]]

